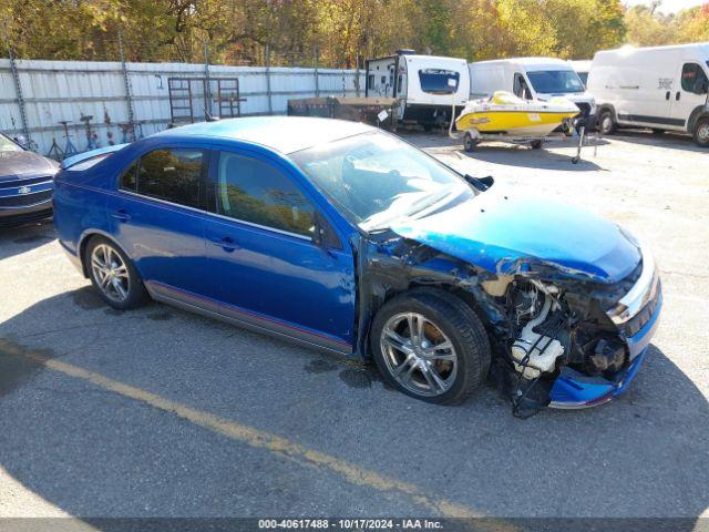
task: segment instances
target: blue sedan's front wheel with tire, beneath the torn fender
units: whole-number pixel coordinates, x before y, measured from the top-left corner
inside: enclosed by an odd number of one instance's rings
[[[377,367],[398,390],[427,402],[463,401],[490,369],[490,340],[458,297],[417,288],[377,313],[371,330]]]

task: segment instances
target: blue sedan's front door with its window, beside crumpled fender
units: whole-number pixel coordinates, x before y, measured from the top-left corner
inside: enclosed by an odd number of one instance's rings
[[[336,350],[351,350],[352,253],[285,165],[250,151],[213,155],[205,235],[220,311]],[[316,225],[335,238],[316,245]]]

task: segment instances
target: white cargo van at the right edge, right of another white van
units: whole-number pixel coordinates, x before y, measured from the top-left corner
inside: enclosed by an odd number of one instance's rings
[[[708,86],[709,42],[596,52],[588,76],[602,133],[682,131],[700,146],[709,146]]]

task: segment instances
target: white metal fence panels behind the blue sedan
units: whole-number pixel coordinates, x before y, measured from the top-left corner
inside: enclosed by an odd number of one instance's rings
[[[60,122],[69,121],[70,140],[81,152],[89,146],[81,119],[93,116],[94,142],[99,146],[119,144],[126,136],[130,106],[136,136],[164,130],[171,122],[168,78],[203,78],[205,73],[204,64],[125,63],[124,71],[121,62],[38,60],[17,60],[13,72],[11,61],[0,59],[0,131],[10,136],[27,131],[37,151],[47,154],[53,140],[65,149]],[[356,83],[353,70],[209,65],[208,76],[239,80],[243,115],[284,114],[289,99],[357,95],[358,86],[362,94],[364,88],[363,72]]]

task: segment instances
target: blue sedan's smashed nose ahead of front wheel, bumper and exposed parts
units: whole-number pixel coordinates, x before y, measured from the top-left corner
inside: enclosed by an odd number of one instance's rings
[[[661,284],[653,255],[613,284],[543,280],[532,268],[510,279],[504,296],[483,285],[505,310],[493,326],[495,375],[513,411],[602,405],[623,393],[637,374],[659,325]]]

